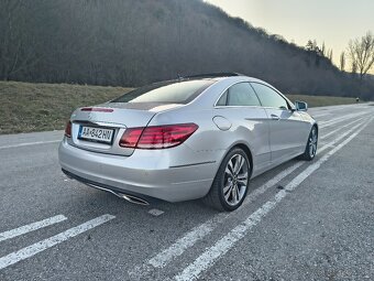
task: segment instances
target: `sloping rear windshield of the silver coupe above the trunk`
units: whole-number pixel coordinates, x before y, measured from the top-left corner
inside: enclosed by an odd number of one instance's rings
[[[129,91],[111,102],[188,104],[213,83],[213,79],[161,82]]]

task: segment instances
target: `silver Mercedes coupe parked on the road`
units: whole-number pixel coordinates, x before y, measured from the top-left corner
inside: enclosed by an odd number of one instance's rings
[[[315,158],[318,125],[306,110],[235,73],[155,83],[75,110],[59,163],[69,177],[133,203],[204,198],[233,210],[250,179]]]

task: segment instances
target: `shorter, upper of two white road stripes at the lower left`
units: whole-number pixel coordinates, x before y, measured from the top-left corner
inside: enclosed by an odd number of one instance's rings
[[[66,220],[66,219],[67,219],[67,217],[65,217],[63,215],[57,215],[57,216],[54,216],[54,217],[50,217],[50,218],[46,218],[46,219],[43,219],[43,220],[40,220],[40,221],[35,221],[35,223],[32,223],[32,224],[29,224],[29,225],[25,225],[25,226],[14,228],[12,230],[1,233],[0,234],[0,242],[4,241],[7,239],[10,239],[10,238],[20,236],[20,235],[24,235],[24,234],[37,230],[37,229],[43,228],[43,227],[47,227],[47,226],[61,223],[61,221]]]

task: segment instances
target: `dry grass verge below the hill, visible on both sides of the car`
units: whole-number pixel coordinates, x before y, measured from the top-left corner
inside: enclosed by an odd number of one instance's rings
[[[62,130],[74,109],[119,97],[130,88],[0,82],[0,134]],[[354,104],[354,98],[287,95],[309,107]]]

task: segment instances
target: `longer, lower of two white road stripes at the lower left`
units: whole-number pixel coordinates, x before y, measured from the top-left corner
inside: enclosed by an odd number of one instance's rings
[[[102,215],[100,217],[94,218],[87,223],[84,223],[79,226],[73,227],[70,229],[65,230],[58,235],[44,239],[42,241],[35,242],[29,247],[25,247],[21,250],[11,252],[2,258],[0,258],[0,270],[4,269],[11,264],[14,264],[21,260],[28,259],[41,251],[44,251],[57,244],[61,244],[72,237],[75,237],[79,234],[82,234],[91,228],[95,228],[99,225],[102,225],[111,219],[116,218],[112,215]]]

